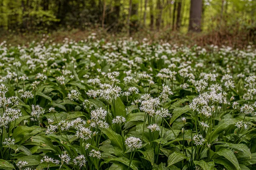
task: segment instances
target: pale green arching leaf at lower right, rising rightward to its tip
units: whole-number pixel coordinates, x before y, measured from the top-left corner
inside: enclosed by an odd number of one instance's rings
[[[222,133],[224,130],[227,129],[228,126],[236,124],[236,119],[223,119],[221,120],[218,125],[215,127],[215,129],[212,131],[212,141],[215,141],[219,134]]]

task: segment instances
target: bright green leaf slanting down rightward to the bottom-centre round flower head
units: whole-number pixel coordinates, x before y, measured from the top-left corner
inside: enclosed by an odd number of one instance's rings
[[[102,132],[108,136],[108,139],[111,140],[111,144],[114,147],[118,147],[121,150],[125,150],[121,135],[117,134],[111,129],[106,129],[106,128],[102,128]]]

